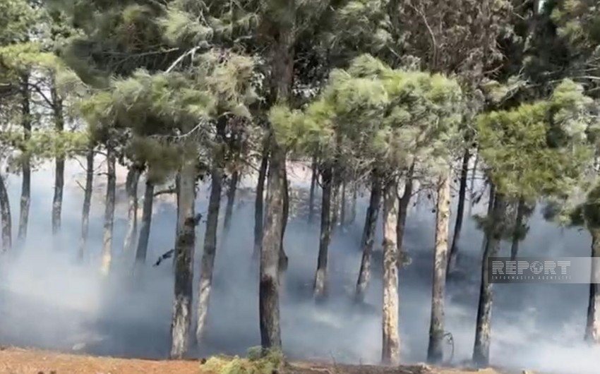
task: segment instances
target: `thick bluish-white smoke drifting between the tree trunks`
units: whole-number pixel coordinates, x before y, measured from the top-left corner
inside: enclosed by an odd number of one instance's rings
[[[97,161],[100,161],[99,159]],[[164,358],[169,352],[172,311],[172,264],[152,267],[174,243],[175,208],[159,200],[152,221],[148,265],[140,282],[131,274],[133,253],[122,253],[126,228],[124,171],[119,171],[114,229],[114,277],[102,280],[98,260],[102,244],[105,181],[98,176],[90,219],[90,260],[76,265],[83,191],[76,181],[83,171],[76,162],[66,168],[63,226],[52,246],[51,210],[54,176],[48,165],[32,176],[29,236],[25,246],[0,258],[0,344],[78,351],[111,356]],[[292,186],[306,187],[306,172],[290,173]],[[304,181],[301,181],[304,179]],[[243,181],[242,188],[253,188]],[[140,193],[143,183],[140,183]],[[8,178],[16,236],[20,178]],[[197,211],[205,212],[208,186],[202,186]],[[141,194],[140,194],[141,195]],[[363,308],[352,305],[359,270],[358,246],[368,196],[359,199],[356,222],[338,229],[330,248],[330,301],[317,306],[311,298],[318,251],[318,223],[292,219],[285,237],[289,269],[282,290],[282,339],[291,358],[347,363],[377,363],[380,358],[382,297],[381,223],[373,280]],[[485,210],[482,201],[474,212]],[[407,222],[404,245],[412,265],[400,272],[400,337],[403,361],[424,361],[428,342],[433,267],[431,201],[419,200]],[[453,206],[454,207],[454,206]],[[222,212],[224,209],[222,210]],[[217,251],[208,328],[200,356],[244,354],[260,344],[258,332],[258,266],[251,260],[253,201],[235,208],[232,234]],[[453,220],[452,220],[453,224]],[[539,212],[521,245],[521,255],[587,256],[591,239],[585,231],[560,229]],[[198,228],[196,261],[202,252],[204,225]],[[446,298],[446,329],[452,333],[453,363],[468,360],[474,342],[482,234],[466,219],[461,241],[461,275]],[[14,239],[16,241],[16,238]],[[503,254],[510,251],[508,243]],[[198,279],[199,264],[195,277]],[[600,351],[584,346],[582,335],[589,286],[585,284],[498,284],[492,316],[491,358],[495,366],[531,368],[548,373],[596,374]],[[448,346],[448,355],[451,348]]]

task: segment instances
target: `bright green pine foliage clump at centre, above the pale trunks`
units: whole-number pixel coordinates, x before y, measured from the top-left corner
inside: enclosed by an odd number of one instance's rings
[[[359,56],[304,111],[275,107],[270,121],[282,143],[319,149],[356,169],[378,164],[390,173],[414,157],[427,169],[448,168],[462,137],[462,93],[440,74],[392,69]],[[341,152],[341,153],[340,153]],[[326,161],[326,159],[324,159]]]

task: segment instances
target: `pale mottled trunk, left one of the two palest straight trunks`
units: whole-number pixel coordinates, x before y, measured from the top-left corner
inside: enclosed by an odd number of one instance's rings
[[[384,364],[400,363],[398,334],[398,198],[397,182],[390,179],[383,191],[383,351]]]

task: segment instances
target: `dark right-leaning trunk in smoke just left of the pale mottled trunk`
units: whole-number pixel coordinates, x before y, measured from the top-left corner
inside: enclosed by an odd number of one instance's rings
[[[375,241],[375,230],[377,217],[379,215],[379,205],[381,201],[381,181],[378,174],[373,171],[371,176],[371,198],[369,199],[365,232],[366,239],[363,243],[363,258],[361,260],[361,270],[359,279],[356,282],[356,301],[364,301],[368,282],[371,280],[371,255],[373,254],[373,243]]]

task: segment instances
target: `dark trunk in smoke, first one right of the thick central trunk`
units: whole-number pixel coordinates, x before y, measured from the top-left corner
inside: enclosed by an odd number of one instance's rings
[[[319,238],[319,255],[317,261],[317,272],[315,275],[314,293],[317,300],[322,300],[327,294],[327,260],[329,244],[331,241],[331,189],[332,168],[323,167],[321,172],[323,179],[323,195],[321,203],[321,227]]]

